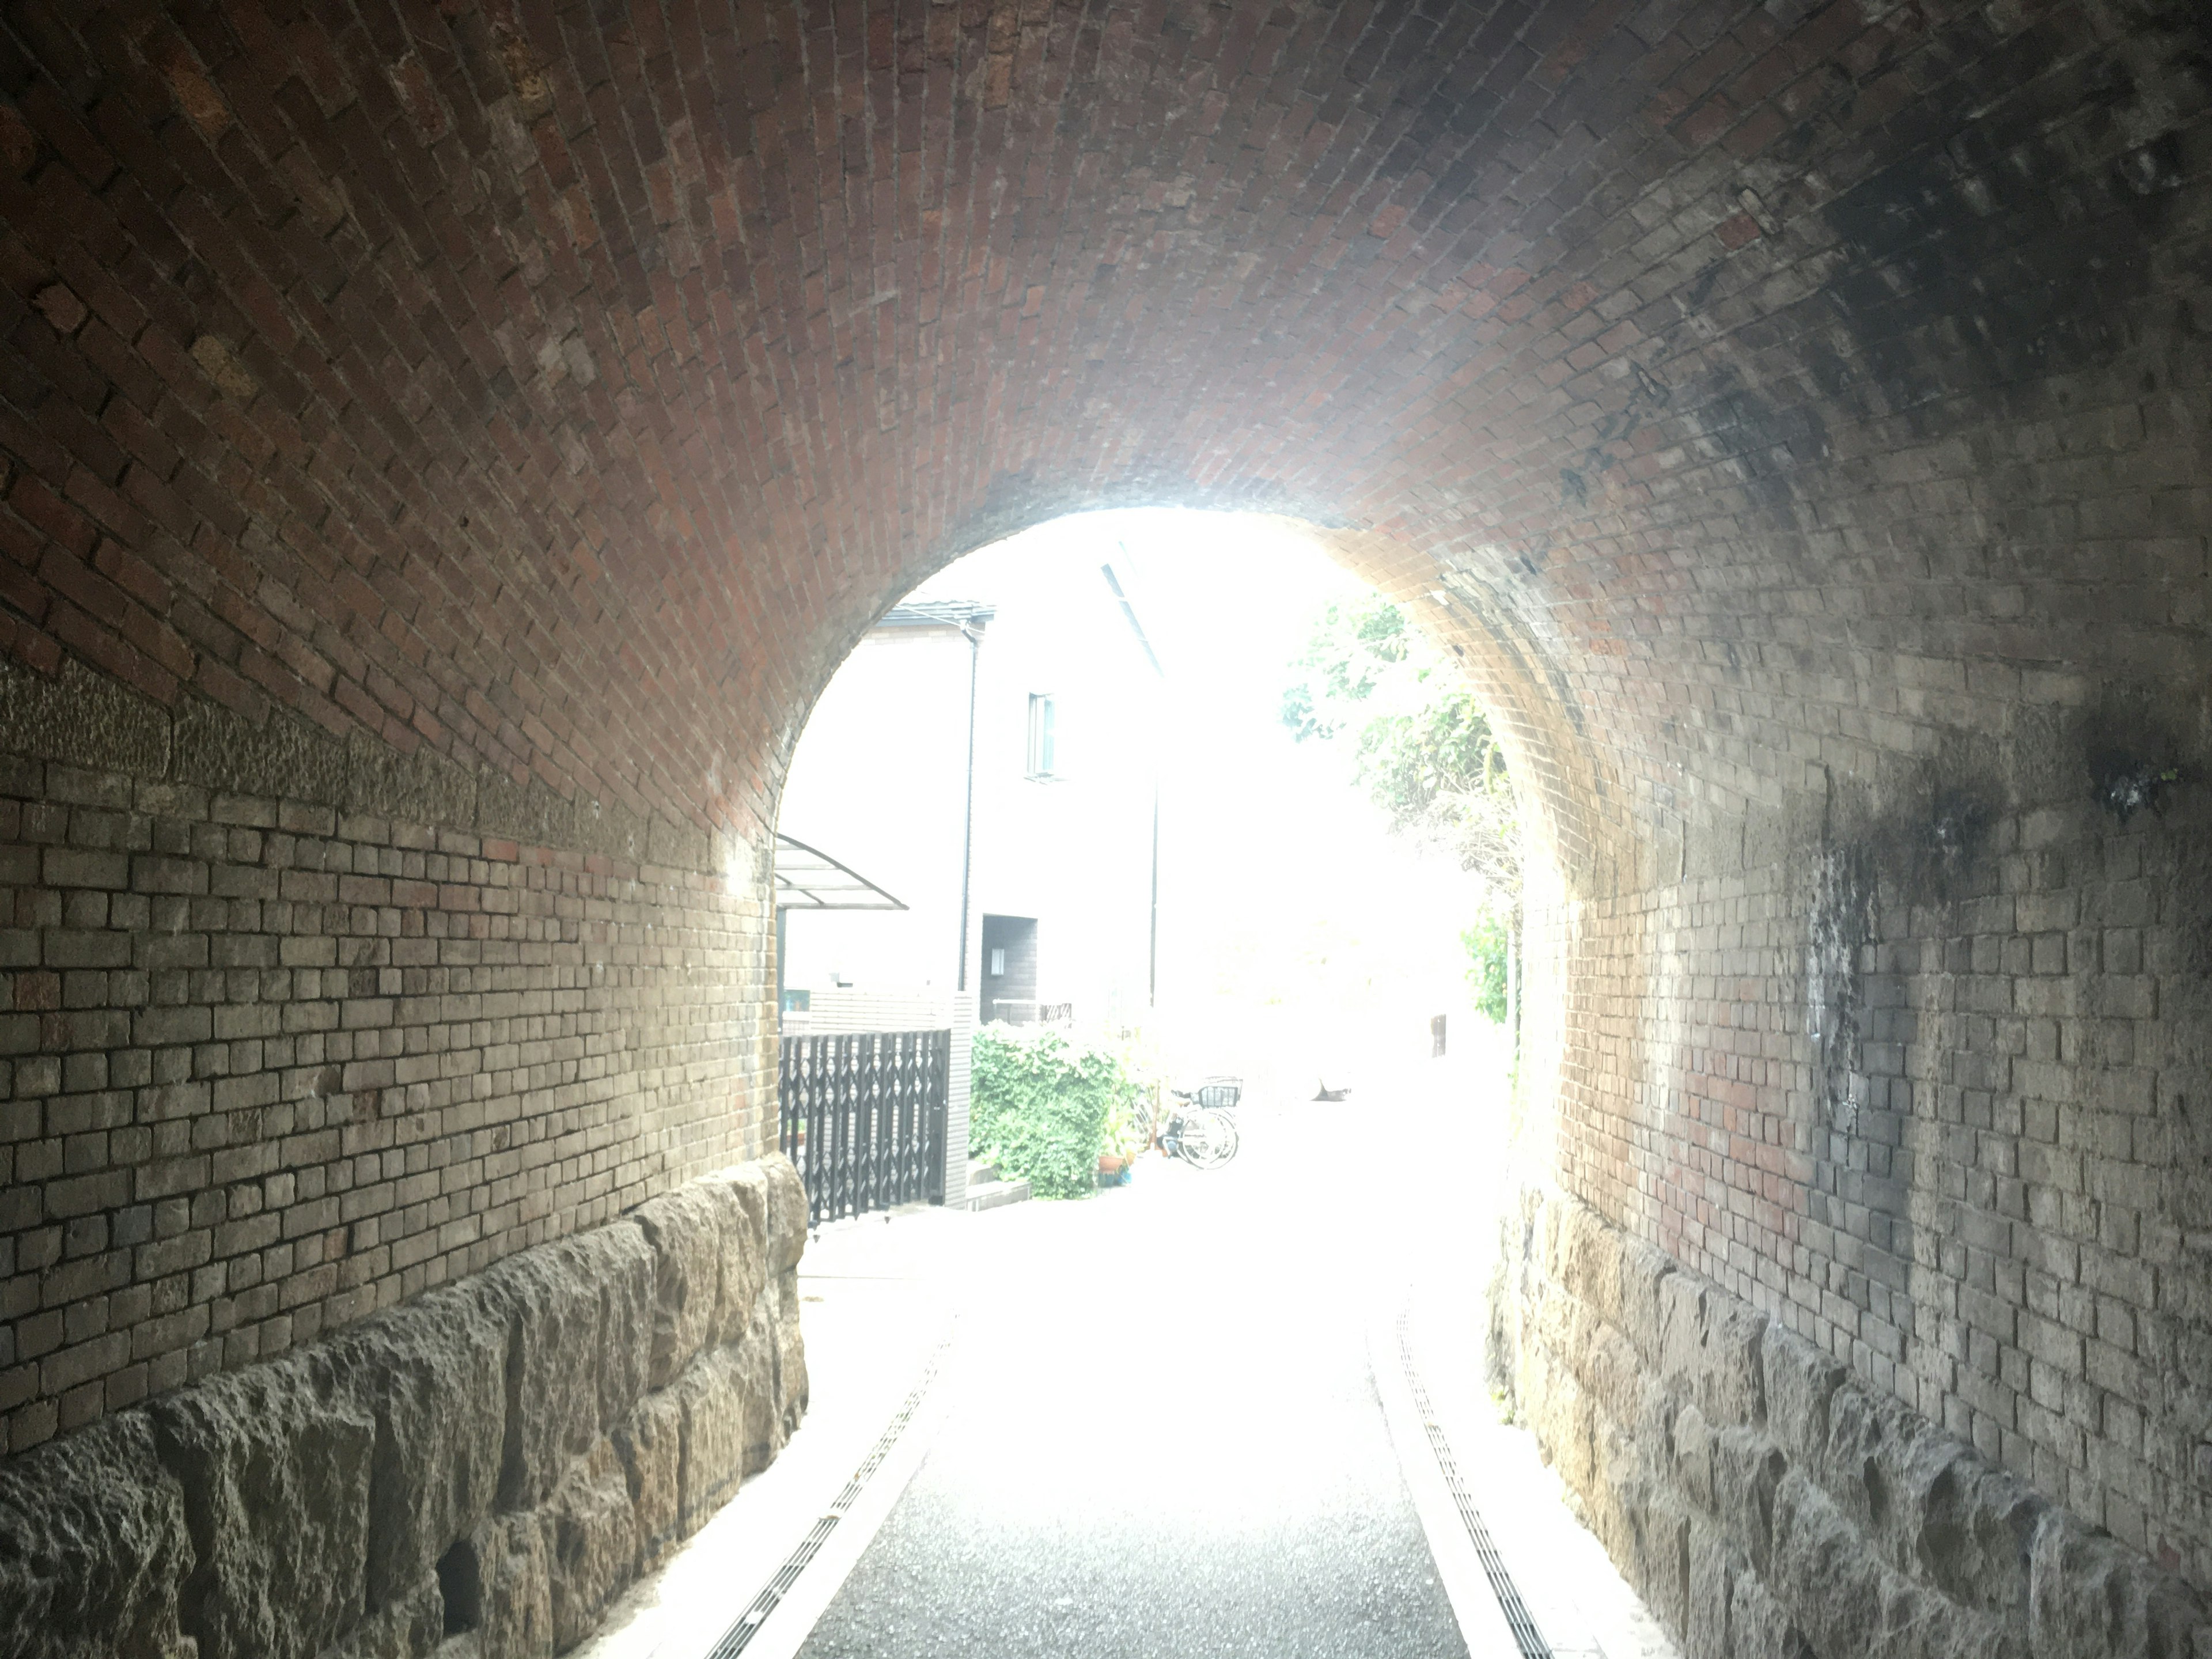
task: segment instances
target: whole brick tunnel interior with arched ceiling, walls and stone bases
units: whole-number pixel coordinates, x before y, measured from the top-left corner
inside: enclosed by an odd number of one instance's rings
[[[774,1455],[799,728],[1166,504],[1495,712],[1686,1652],[2212,1655],[2201,7],[0,18],[0,1650],[553,1652]]]

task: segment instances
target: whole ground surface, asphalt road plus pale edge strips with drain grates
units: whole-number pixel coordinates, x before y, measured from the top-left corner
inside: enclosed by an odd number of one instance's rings
[[[1674,1659],[1478,1383],[1489,1095],[1418,1071],[1243,1113],[1219,1172],[1148,1157],[1086,1203],[825,1230],[801,1265],[803,1431],[573,1659],[706,1659],[834,1500],[743,1659],[1517,1659],[1418,1462],[1400,1307],[1557,1659]]]

